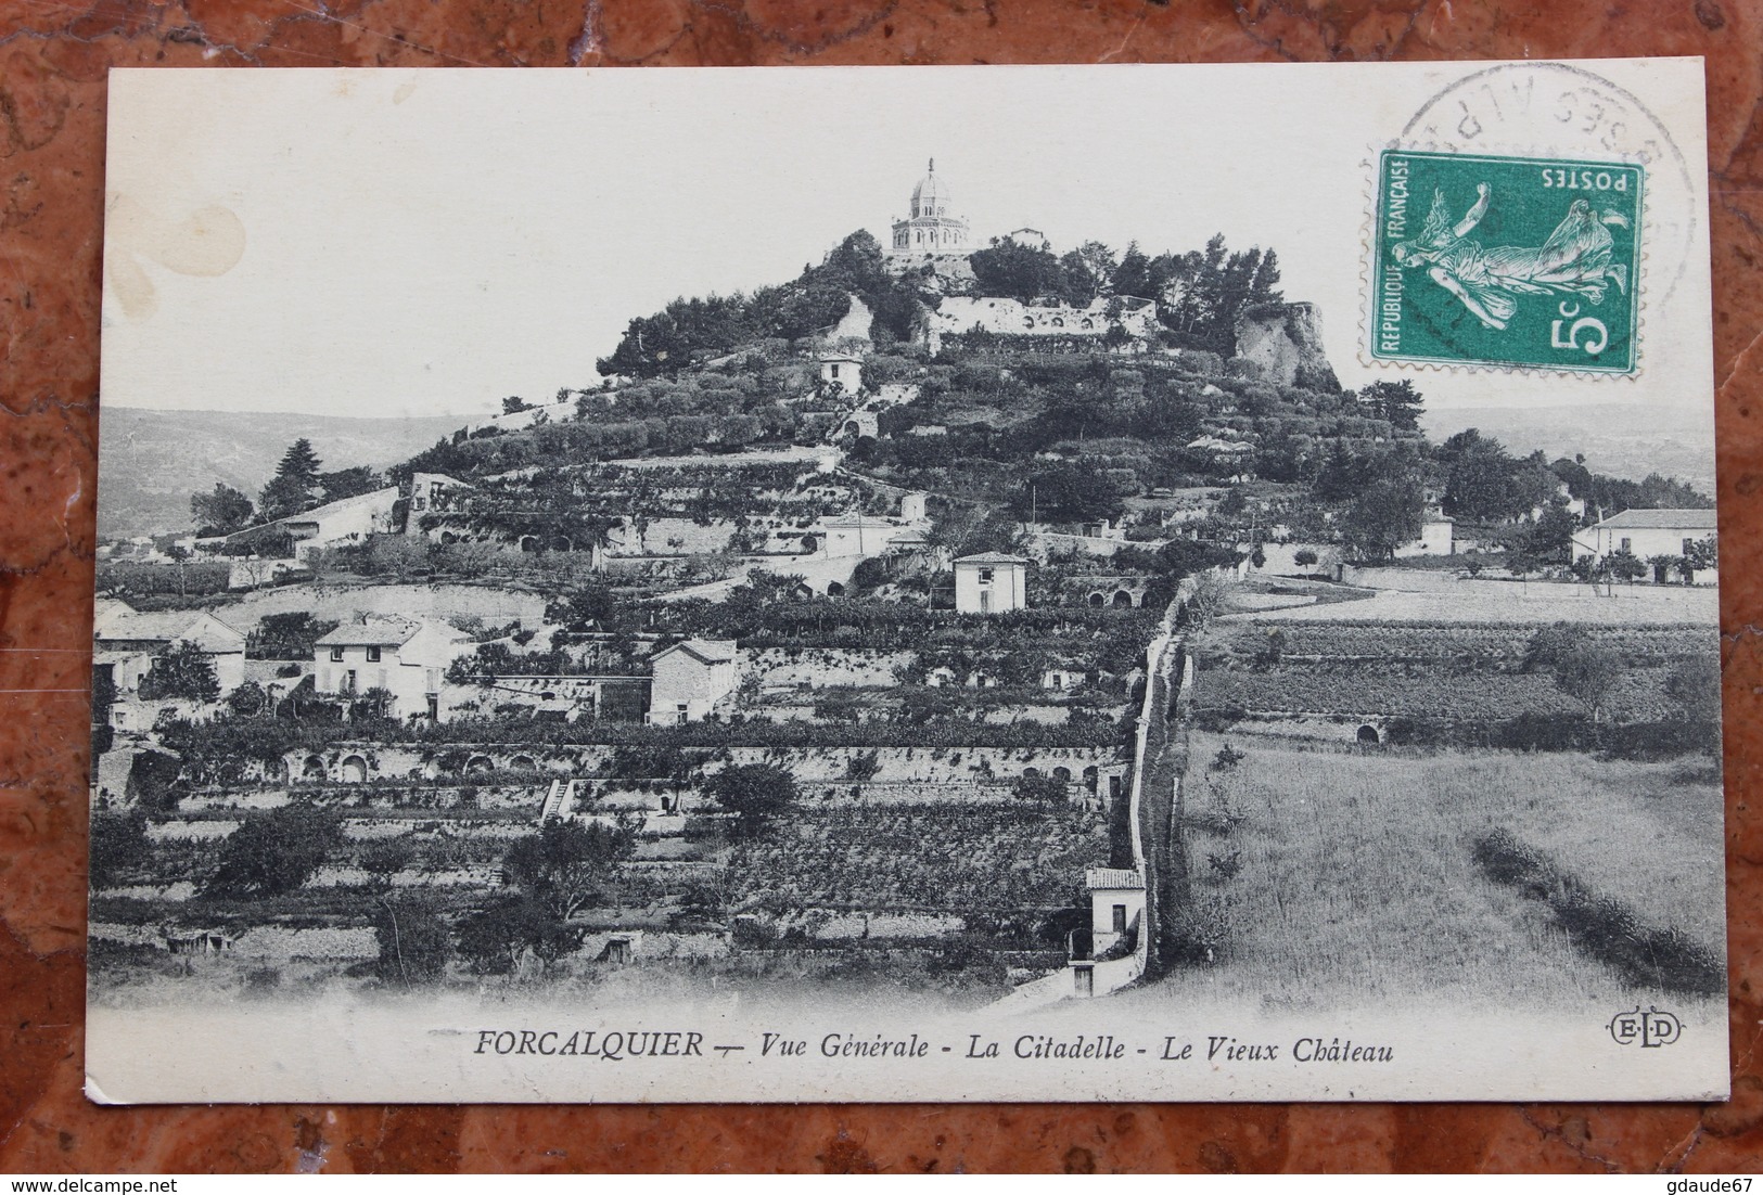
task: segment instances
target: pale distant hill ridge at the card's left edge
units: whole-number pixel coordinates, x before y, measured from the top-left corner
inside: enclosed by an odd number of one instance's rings
[[[464,427],[462,416],[349,419],[294,412],[141,411],[99,412],[99,536],[190,529],[190,494],[215,481],[252,501],[296,439],[312,441],[324,469],[407,460]]]

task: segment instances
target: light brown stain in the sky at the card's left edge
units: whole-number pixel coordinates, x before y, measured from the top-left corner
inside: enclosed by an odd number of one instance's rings
[[[130,196],[111,196],[104,238],[106,280],[130,319],[146,319],[159,308],[157,286],[143,263],[215,278],[245,256],[245,224],[219,204],[167,215]]]

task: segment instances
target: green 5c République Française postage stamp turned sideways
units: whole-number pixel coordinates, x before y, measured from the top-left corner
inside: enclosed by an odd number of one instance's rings
[[[1386,150],[1372,358],[1634,374],[1645,169]]]

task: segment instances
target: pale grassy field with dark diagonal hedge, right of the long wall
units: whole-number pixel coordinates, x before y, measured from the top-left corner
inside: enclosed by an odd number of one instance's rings
[[[1701,756],[1239,742],[1241,761],[1216,768],[1224,746],[1194,737],[1183,788],[1195,961],[1139,999],[1606,1008],[1663,994],[1636,978],[1636,941],[1684,961],[1673,999],[1724,991],[1721,788]],[[1477,848],[1497,832],[1557,881],[1495,878]],[[1625,941],[1587,931],[1594,906]]]

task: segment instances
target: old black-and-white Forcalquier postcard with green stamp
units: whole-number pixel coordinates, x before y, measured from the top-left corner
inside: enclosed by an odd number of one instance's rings
[[[109,104],[92,1100],[1724,1096],[1700,60]]]

